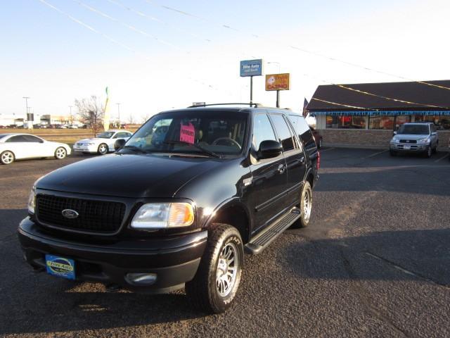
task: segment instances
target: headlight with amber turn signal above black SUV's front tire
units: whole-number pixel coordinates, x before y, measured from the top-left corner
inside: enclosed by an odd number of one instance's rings
[[[194,210],[188,203],[144,204],[131,220],[136,229],[159,229],[165,227],[188,227],[194,222]]]

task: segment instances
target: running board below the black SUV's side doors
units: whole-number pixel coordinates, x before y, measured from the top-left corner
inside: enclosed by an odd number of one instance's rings
[[[269,227],[257,234],[257,236],[248,242],[248,244],[245,244],[245,252],[257,255],[266,249],[271,242],[274,242],[276,237],[282,234],[284,230],[293,225],[301,215],[302,213],[299,208],[293,208],[290,213],[284,215],[282,218],[278,218],[275,223],[269,225]]]

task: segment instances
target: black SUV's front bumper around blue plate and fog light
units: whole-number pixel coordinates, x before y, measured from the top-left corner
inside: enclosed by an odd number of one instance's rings
[[[39,229],[30,218],[19,225],[25,259],[45,270],[49,253],[75,260],[77,280],[118,284],[126,289],[162,293],[193,279],[205,250],[207,231],[159,239],[128,239],[113,244],[86,244],[58,239]],[[153,284],[135,284],[128,273],[153,273]]]

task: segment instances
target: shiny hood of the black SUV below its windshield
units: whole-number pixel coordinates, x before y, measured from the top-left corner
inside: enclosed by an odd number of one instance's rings
[[[103,196],[169,198],[193,177],[220,163],[214,158],[111,154],[55,170],[42,177],[37,188]]]

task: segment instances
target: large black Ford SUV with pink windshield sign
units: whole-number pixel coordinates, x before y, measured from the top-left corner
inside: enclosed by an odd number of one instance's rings
[[[309,223],[319,153],[299,114],[166,111],[116,149],[34,184],[18,236],[35,270],[134,291],[185,287],[219,313],[236,296],[244,251]]]

